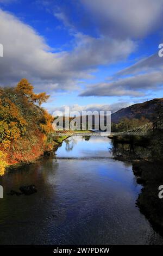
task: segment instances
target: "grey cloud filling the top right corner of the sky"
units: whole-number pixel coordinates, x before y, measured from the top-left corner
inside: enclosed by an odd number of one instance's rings
[[[162,0],[80,0],[102,34],[142,38],[161,26]]]

